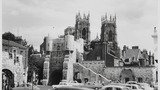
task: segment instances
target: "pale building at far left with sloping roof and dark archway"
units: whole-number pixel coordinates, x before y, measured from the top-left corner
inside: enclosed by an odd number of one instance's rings
[[[14,41],[2,40],[2,88],[27,83],[28,48]]]

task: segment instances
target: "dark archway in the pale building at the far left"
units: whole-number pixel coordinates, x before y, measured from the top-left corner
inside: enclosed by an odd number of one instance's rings
[[[5,90],[10,90],[13,87],[14,87],[14,74],[8,69],[3,69],[2,88],[5,88]]]

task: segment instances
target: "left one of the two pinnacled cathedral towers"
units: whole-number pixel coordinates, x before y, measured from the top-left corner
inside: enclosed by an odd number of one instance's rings
[[[83,15],[81,17],[80,13],[76,15],[76,24],[75,24],[75,39],[83,38],[84,43],[90,42],[90,15]]]

